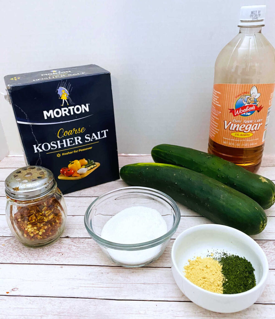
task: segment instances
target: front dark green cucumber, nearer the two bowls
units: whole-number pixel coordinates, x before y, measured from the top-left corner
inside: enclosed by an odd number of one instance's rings
[[[248,235],[262,232],[267,223],[263,208],[253,199],[184,167],[137,163],[123,166],[120,176],[130,185],[159,189],[212,222]]]

